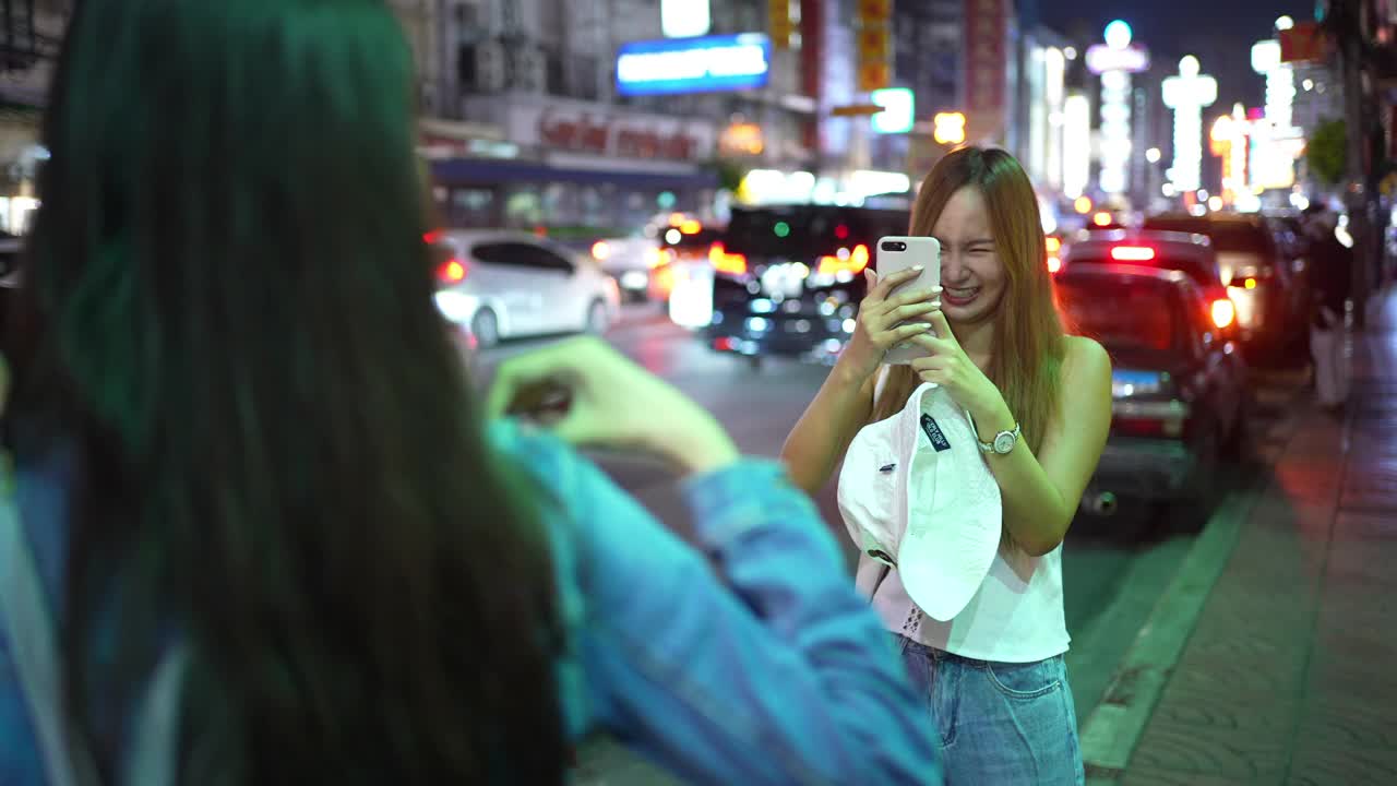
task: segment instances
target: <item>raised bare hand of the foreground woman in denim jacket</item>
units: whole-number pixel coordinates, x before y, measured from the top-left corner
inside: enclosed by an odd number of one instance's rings
[[[529,420],[580,448],[652,453],[683,473],[738,459],[738,448],[707,410],[591,336],[500,364],[486,415]]]

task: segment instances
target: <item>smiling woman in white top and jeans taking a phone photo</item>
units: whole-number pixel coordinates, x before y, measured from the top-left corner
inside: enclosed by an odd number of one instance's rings
[[[1038,203],[1007,152],[965,147],[943,158],[908,234],[939,241],[942,287],[894,294],[918,273],[869,274],[854,337],[781,456],[814,492],[859,429],[900,413],[921,383],[970,413],[1003,505],[989,573],[944,622],[915,607],[895,569],[872,601],[928,695],[947,783],[1081,783],[1062,657],[1062,540],[1105,446],[1111,362],[1063,330]],[[922,357],[886,365],[907,340]]]

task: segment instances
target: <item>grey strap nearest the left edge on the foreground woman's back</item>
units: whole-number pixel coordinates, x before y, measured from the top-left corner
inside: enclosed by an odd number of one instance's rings
[[[92,754],[63,708],[53,615],[20,523],[10,477],[0,495],[0,621],[52,786],[95,786]]]

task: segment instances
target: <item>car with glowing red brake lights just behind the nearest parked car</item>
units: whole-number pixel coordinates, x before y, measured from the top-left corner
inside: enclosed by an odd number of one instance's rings
[[[1051,246],[1049,246],[1051,249]],[[1235,338],[1236,305],[1222,285],[1217,253],[1207,235],[1113,229],[1083,235],[1062,250],[1060,270],[1073,264],[1137,264],[1178,270],[1204,295],[1204,315],[1227,337]]]

